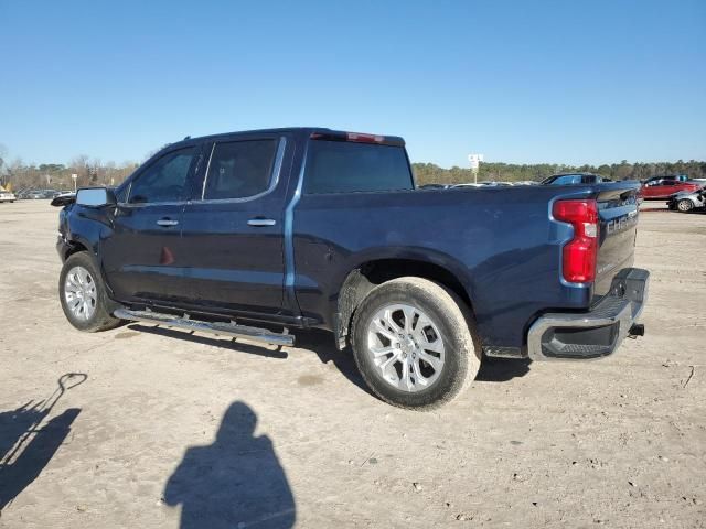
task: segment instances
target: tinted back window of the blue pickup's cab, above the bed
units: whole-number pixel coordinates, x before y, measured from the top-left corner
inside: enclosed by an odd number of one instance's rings
[[[405,149],[350,141],[312,140],[304,193],[411,190]]]

